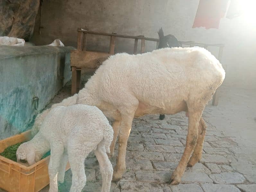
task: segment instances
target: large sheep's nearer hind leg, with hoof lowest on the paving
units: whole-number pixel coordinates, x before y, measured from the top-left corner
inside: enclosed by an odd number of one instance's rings
[[[194,112],[189,110],[189,127],[186,147],[181,157],[180,163],[178,164],[175,171],[172,173],[171,179],[169,181],[171,185],[177,185],[181,182],[181,177],[186,169],[190,155],[193,152],[193,149],[195,148],[195,145],[197,143],[198,126],[201,115],[202,111]]]

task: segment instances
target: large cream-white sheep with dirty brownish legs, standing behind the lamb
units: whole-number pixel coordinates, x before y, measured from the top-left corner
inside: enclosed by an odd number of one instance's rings
[[[172,185],[177,185],[186,166],[193,166],[202,156],[206,132],[202,113],[224,78],[222,65],[204,48],[164,48],[137,55],[121,53],[104,61],[85,87],[68,99],[97,106],[114,120],[110,154],[118,134],[119,151],[113,181],[120,180],[126,170],[126,146],[134,117],[186,111],[189,117],[186,147],[170,179]]]

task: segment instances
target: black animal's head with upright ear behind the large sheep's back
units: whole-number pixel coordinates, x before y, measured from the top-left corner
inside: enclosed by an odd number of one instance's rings
[[[173,35],[164,36],[163,29],[161,28],[158,32],[159,36],[159,45],[158,49],[165,48],[165,47],[181,47],[179,41]]]

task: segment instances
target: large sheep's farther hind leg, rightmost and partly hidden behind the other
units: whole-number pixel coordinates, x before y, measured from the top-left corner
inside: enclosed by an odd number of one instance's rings
[[[205,124],[203,117],[201,117],[201,119],[199,121],[197,144],[196,144],[196,146],[194,148],[194,152],[188,162],[188,165],[187,165],[188,167],[194,166],[201,159],[202,152],[203,152],[205,133],[206,133],[206,124]]]

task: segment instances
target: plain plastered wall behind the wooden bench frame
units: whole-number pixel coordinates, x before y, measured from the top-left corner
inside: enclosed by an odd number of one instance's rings
[[[165,34],[173,34],[180,41],[225,44],[224,85],[255,89],[256,25],[238,17],[222,19],[219,29],[192,28],[198,3],[199,0],[48,0],[42,6],[41,34],[37,17],[32,41],[43,45],[59,38],[65,46],[76,47],[78,27],[154,38],[163,27]],[[117,38],[115,51],[132,53],[133,44],[133,40]],[[105,36],[88,36],[88,49],[107,51],[108,45],[109,38]],[[154,48],[155,44],[146,41],[146,51]],[[210,51],[217,55],[216,49]]]

